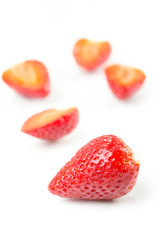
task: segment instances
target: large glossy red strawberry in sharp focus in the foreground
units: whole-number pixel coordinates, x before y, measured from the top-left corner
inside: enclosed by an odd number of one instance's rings
[[[57,173],[48,189],[60,197],[114,199],[127,194],[137,180],[139,163],[125,142],[104,135],[83,146]]]

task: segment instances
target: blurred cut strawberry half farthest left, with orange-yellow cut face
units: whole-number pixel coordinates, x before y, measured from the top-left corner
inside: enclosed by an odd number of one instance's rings
[[[49,94],[49,76],[41,62],[31,60],[14,65],[3,73],[2,78],[10,87],[27,97],[46,97]]]

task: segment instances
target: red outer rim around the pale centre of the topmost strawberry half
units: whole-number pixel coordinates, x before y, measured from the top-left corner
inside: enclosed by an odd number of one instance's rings
[[[93,61],[93,59],[91,59],[90,63],[86,63],[85,61],[83,61],[83,59],[81,58],[81,46],[85,45],[86,42],[88,42],[87,39],[80,39],[79,41],[76,42],[75,47],[73,49],[73,55],[75,57],[76,62],[78,63],[78,65],[80,65],[81,67],[83,67],[84,69],[88,70],[88,71],[92,71],[94,69],[96,69],[98,66],[100,66],[101,64],[103,64],[107,58],[110,55],[111,52],[111,46],[109,44],[109,42],[101,42],[99,44],[103,44],[103,52],[101,52],[101,54],[99,54],[99,56],[97,56],[97,58]],[[79,52],[75,52],[75,48],[78,47],[79,48]]]

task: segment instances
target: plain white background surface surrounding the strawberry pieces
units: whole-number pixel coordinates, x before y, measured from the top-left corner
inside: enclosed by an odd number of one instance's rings
[[[0,239],[159,239],[160,34],[159,0],[0,0],[0,73],[29,59],[42,61],[51,94],[27,99],[0,81]],[[79,38],[107,40],[109,60],[88,73],[72,55]],[[104,68],[140,68],[144,86],[120,101]],[[80,122],[48,143],[20,132],[32,114],[77,106]],[[133,149],[137,184],[114,201],[76,201],[47,186],[76,151],[94,137],[115,134]]]

